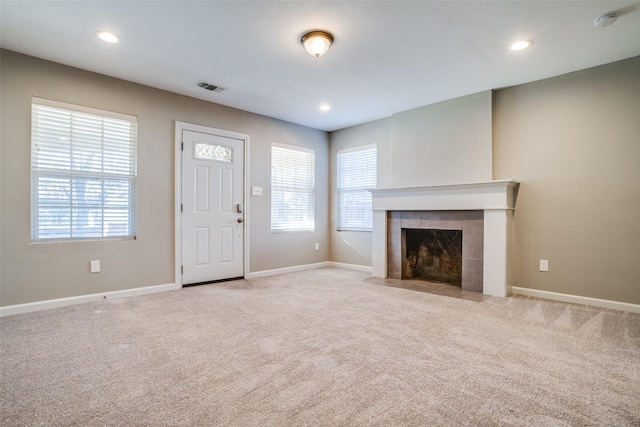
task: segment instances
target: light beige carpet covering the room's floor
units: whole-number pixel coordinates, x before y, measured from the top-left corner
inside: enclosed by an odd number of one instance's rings
[[[300,273],[0,319],[3,426],[639,426],[640,315]]]

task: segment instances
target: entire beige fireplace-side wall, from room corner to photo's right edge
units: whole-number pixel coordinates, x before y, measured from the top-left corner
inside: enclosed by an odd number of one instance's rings
[[[640,304],[640,57],[417,108],[330,138],[332,177],[338,149],[377,142],[379,187],[441,183],[436,170],[453,183],[521,182],[513,284]],[[465,140],[472,144],[458,145]],[[333,261],[371,265],[370,247],[370,233],[335,231],[332,213]],[[538,271],[540,259],[549,272]]]

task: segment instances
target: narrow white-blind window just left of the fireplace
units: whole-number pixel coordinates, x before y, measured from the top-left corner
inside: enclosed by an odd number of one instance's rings
[[[367,145],[338,151],[338,230],[373,228],[371,193],[377,177],[377,149]]]

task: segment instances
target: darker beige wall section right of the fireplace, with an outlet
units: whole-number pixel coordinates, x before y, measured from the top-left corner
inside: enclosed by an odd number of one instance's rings
[[[640,57],[498,90],[493,117],[514,284],[640,304]]]

